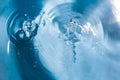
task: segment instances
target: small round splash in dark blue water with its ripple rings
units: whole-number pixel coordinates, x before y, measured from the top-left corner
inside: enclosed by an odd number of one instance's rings
[[[7,21],[7,32],[13,43],[29,42],[37,34],[38,24],[29,15],[13,12]]]

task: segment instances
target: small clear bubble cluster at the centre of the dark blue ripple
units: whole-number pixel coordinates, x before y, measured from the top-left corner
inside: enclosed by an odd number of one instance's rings
[[[37,34],[38,25],[32,20],[25,20],[15,36],[18,40],[30,40]]]

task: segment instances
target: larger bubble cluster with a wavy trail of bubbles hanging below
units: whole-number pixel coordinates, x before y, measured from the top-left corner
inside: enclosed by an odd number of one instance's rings
[[[69,19],[69,22],[64,26],[64,32],[60,35],[61,39],[65,41],[67,45],[72,45],[74,62],[76,61],[76,44],[83,42],[86,43],[89,40],[96,38],[96,32],[90,22],[87,22],[80,14]]]

